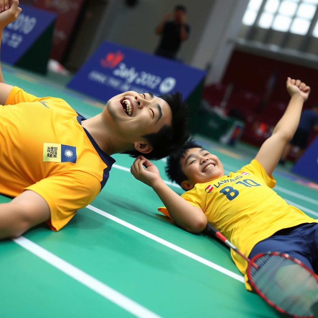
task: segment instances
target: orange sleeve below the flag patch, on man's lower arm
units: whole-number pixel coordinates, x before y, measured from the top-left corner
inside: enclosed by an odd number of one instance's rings
[[[45,199],[51,213],[51,218],[46,223],[53,231],[59,231],[78,209],[93,201],[100,189],[100,182],[95,176],[79,170],[69,170],[44,178],[24,190],[32,190]]]

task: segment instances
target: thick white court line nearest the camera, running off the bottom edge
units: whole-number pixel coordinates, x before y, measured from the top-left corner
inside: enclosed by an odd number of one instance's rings
[[[107,298],[112,301],[117,306],[125,309],[129,313],[135,315],[138,318],[161,318],[161,316],[156,315],[149,309],[143,307],[142,305],[136,303],[125,295],[117,292],[115,289],[107,286],[101,281],[97,280],[93,276],[83,272],[79,268],[73,266],[72,264],[66,262],[64,259],[59,258],[55,254],[49,252],[43,247],[35,244],[34,242],[26,239],[23,236],[12,239],[15,243],[22,246],[29,252],[43,259],[45,262],[51,264],[52,266],[59,269],[61,272],[77,280],[81,284],[90,288],[97,294]]]

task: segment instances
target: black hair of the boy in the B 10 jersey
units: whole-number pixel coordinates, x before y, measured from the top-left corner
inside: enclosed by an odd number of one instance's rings
[[[166,174],[171,181],[175,181],[180,186],[183,181],[188,180],[188,177],[182,171],[180,159],[191,148],[202,148],[202,146],[198,145],[193,138],[190,138],[177,153],[171,154],[167,160]]]

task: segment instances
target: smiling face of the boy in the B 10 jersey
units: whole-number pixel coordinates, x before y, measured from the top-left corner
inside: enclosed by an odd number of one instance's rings
[[[217,156],[202,148],[191,148],[181,158],[180,164],[188,180],[182,187],[190,190],[196,183],[205,183],[224,176],[223,165]]]

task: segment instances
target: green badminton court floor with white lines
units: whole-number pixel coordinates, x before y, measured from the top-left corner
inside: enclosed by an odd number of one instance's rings
[[[6,83],[28,93],[65,99],[85,117],[103,106],[10,67],[3,74]],[[197,138],[221,159],[225,173],[252,159],[253,150],[238,154]],[[154,191],[129,172],[132,158],[114,158],[99,196],[61,231],[39,225],[0,242],[0,318],[284,317],[245,290],[227,247],[178,228],[157,211],[162,204]],[[167,180],[164,160],[157,167]],[[317,190],[291,176],[278,168],[275,190],[318,218]],[[0,196],[0,203],[9,200]]]

